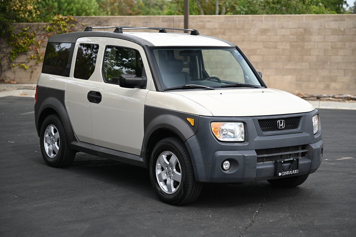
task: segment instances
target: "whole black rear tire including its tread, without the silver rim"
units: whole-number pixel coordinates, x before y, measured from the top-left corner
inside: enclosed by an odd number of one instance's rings
[[[58,153],[54,157],[50,157],[45,148],[45,132],[49,125],[54,125],[59,134],[59,148]],[[48,115],[48,117],[43,121],[40,132],[40,147],[43,160],[47,165],[52,167],[66,167],[72,163],[75,151],[69,148],[66,132],[64,131],[64,125],[61,118],[57,114]]]

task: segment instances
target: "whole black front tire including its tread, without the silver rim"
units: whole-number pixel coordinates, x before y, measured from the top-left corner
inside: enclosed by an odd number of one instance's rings
[[[156,177],[156,162],[162,152],[172,152],[180,164],[181,182],[176,192],[168,194],[163,192]],[[165,203],[173,205],[185,205],[195,201],[200,192],[202,184],[197,182],[194,177],[192,161],[184,143],[176,137],[165,138],[159,141],[152,151],[150,159],[150,179],[153,190],[158,198]]]

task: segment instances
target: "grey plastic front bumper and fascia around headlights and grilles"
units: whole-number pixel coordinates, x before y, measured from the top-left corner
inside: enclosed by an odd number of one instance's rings
[[[320,166],[323,149],[320,123],[318,133],[313,134],[312,117],[317,113],[314,110],[296,114],[303,117],[298,130],[292,133],[274,132],[271,135],[261,134],[256,129],[254,117],[199,117],[197,133],[185,142],[192,159],[195,179],[198,182],[244,183],[278,178],[274,176],[273,162],[257,163],[256,150],[298,145],[303,145],[308,151],[304,153],[304,158],[299,159],[299,172],[288,177],[315,172]],[[246,140],[232,143],[216,140],[211,131],[206,129],[215,121],[244,122]],[[231,163],[228,171],[221,168],[225,160]]]

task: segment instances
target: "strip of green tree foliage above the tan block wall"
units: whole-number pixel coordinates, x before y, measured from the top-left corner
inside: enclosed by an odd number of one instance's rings
[[[190,0],[190,15],[341,14],[345,0]],[[183,15],[184,0],[1,0],[0,31],[10,22],[48,22],[52,16]],[[350,7],[355,13],[356,9]]]

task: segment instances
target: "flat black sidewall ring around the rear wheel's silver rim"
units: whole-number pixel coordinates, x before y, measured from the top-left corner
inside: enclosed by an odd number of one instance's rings
[[[50,165],[50,166],[54,166],[56,165],[62,157],[62,150],[63,150],[63,134],[62,134],[62,130],[61,130],[61,124],[59,124],[60,121],[58,120],[58,118],[54,115],[49,115],[45,121],[43,121],[42,123],[42,127],[41,127],[41,133],[40,133],[40,147],[41,147],[41,152],[42,152],[42,156],[43,159],[45,160],[45,162]],[[45,149],[45,142],[44,142],[44,138],[45,138],[45,130],[47,128],[48,125],[54,125],[57,128],[58,134],[59,134],[59,149],[58,149],[58,153],[56,155],[56,157],[51,158],[47,155],[46,149]]]

